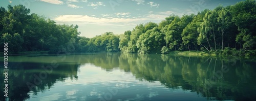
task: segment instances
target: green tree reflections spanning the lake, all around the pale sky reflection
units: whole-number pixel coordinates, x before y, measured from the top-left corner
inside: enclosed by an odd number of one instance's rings
[[[72,61],[72,63],[65,63]],[[122,53],[100,53],[67,56],[67,61],[59,63],[58,68],[42,81],[41,85],[32,89],[34,94],[50,89],[55,82],[64,81],[67,78],[78,79],[77,68],[84,63],[92,63],[100,66],[106,71],[120,68],[124,72],[131,72],[137,79],[148,82],[160,82],[165,87],[175,89],[181,87],[183,90],[197,92],[216,100],[256,100],[256,86],[253,68],[255,62],[233,59],[233,58],[210,58],[210,57],[177,57],[162,54],[122,54]],[[29,66],[28,66],[29,65]],[[13,68],[9,75],[11,99],[27,99],[30,91],[26,83],[33,82],[33,74],[38,75],[42,65],[48,63],[23,62]],[[223,71],[223,65],[229,71]],[[22,71],[20,71],[22,70]],[[55,71],[57,70],[57,71]],[[209,86],[212,77],[218,77],[214,84]],[[0,78],[3,81],[3,78]],[[245,86],[246,85],[246,86]],[[3,85],[0,85],[3,88]],[[0,92],[3,95],[3,91]],[[19,95],[19,96],[17,96]],[[4,100],[4,99],[0,99]]]

